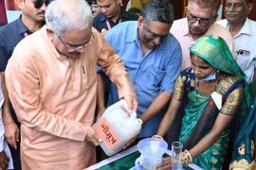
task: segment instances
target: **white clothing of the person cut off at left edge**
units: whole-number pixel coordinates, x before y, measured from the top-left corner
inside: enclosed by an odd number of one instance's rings
[[[1,76],[0,76],[0,152],[5,150],[7,156],[9,157],[9,167],[8,169],[13,169],[13,163],[11,159],[11,155],[9,152],[9,146],[5,141],[5,127],[3,124],[3,118],[2,118],[2,106],[4,104],[4,95],[2,92],[2,86],[1,86]]]

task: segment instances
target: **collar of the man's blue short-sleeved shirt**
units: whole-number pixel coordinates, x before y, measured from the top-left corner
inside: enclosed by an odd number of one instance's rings
[[[139,41],[139,38],[138,38],[138,28],[137,28],[137,21],[134,21],[135,23],[135,26],[133,26],[131,29],[130,29],[130,36],[127,37],[127,40],[125,42],[127,43],[131,43],[131,42],[136,42],[138,46],[140,46],[140,41]],[[171,35],[170,33],[168,33],[168,36],[166,37],[166,39],[161,42],[160,45],[158,45],[156,48],[158,49],[161,49],[161,50],[164,50],[166,49],[166,45],[164,45],[166,43],[166,40],[168,39],[169,36],[173,36]]]

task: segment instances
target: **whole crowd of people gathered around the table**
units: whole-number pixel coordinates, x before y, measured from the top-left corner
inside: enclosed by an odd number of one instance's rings
[[[183,144],[182,163],[256,169],[253,0],[18,0],[0,27],[0,170],[84,169],[93,125],[124,99],[154,135]],[[98,154],[98,155],[97,155]],[[155,168],[170,169],[172,157]]]

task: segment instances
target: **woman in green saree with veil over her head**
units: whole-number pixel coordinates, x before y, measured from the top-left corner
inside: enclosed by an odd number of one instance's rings
[[[178,76],[172,101],[156,135],[164,136],[187,96],[179,141],[185,149],[183,165],[219,170],[229,144],[230,125],[246,101],[246,76],[233,59],[227,43],[218,37],[199,38],[191,47],[192,67]],[[170,169],[171,159],[157,168]]]

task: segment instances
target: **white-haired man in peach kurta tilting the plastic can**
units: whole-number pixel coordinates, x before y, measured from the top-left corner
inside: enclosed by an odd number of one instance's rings
[[[6,69],[9,99],[21,122],[24,169],[81,170],[95,163],[101,139],[92,127],[96,65],[119,87],[128,111],[136,93],[114,49],[92,28],[84,0],[56,0],[46,26],[20,42]]]

